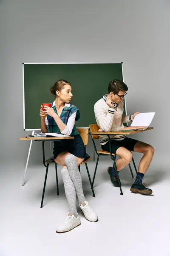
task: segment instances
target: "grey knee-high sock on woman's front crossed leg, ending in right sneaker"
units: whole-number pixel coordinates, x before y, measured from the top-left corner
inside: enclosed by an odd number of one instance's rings
[[[82,190],[82,177],[79,173],[76,157],[73,154],[67,155],[65,157],[65,165],[76,189],[79,204],[82,204],[85,201],[85,196]]]

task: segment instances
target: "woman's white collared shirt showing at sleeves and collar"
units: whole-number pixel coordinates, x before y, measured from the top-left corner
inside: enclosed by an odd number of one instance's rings
[[[53,105],[52,107],[56,106],[56,102],[54,100],[53,102]],[[65,103],[65,106],[64,107],[70,107],[70,103]],[[63,110],[63,108],[62,108]],[[61,112],[62,112],[61,110]],[[59,116],[61,115],[61,112],[59,114]],[[65,129],[63,131],[60,130],[60,132],[64,135],[67,135],[67,136],[70,136],[72,130],[73,130],[73,127],[76,123],[75,119],[76,119],[76,113],[77,111],[75,111],[69,118],[68,118],[68,122],[67,122],[67,125],[65,126]],[[48,126],[48,119],[47,119],[47,116],[45,117],[45,125],[47,127],[47,130],[49,131],[49,126]]]

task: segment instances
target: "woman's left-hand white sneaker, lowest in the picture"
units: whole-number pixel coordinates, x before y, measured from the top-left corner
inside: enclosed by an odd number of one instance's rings
[[[65,220],[62,222],[62,224],[59,227],[57,227],[56,232],[65,233],[72,230],[75,227],[78,227],[80,224],[81,222],[80,222],[79,215],[76,218],[72,213],[68,212],[68,215],[66,216]]]

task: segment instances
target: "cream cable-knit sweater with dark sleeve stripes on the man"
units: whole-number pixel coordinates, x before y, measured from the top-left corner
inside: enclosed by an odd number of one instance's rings
[[[106,104],[107,94],[99,99],[94,105],[94,114],[96,122],[99,125],[99,131],[118,131],[118,128],[124,127],[123,123],[132,122],[133,115],[123,114],[124,101],[119,104],[114,103],[114,108],[109,108]],[[100,135],[100,144],[108,143],[107,135]],[[110,135],[111,140],[123,140],[126,135]]]

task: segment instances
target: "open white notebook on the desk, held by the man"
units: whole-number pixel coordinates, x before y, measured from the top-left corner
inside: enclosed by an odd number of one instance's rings
[[[119,131],[144,131],[146,130],[155,115],[155,112],[139,113],[133,119],[130,127],[119,128]]]

